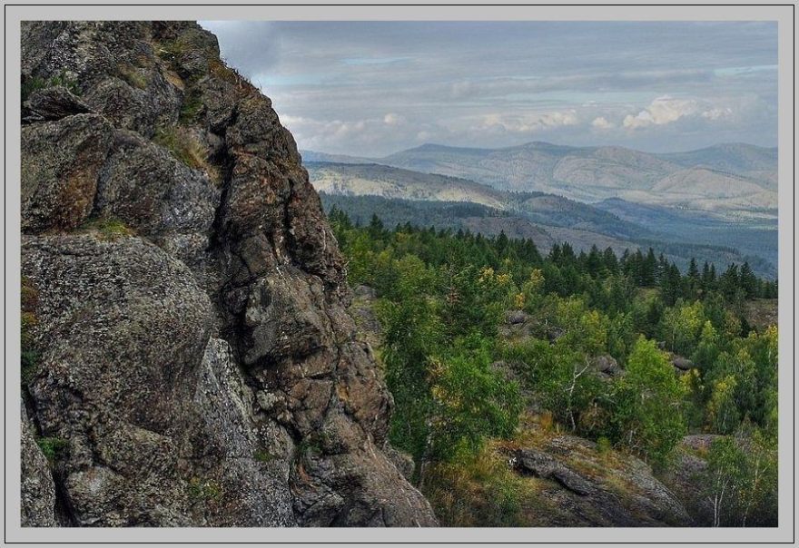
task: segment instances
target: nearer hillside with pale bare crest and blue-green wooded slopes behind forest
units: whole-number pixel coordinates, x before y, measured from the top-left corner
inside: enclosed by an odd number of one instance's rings
[[[748,259],[759,275],[775,275],[776,231],[731,224],[719,216],[618,199],[589,205],[380,164],[309,162],[306,168],[326,206],[335,204],[363,222],[376,213],[388,226],[410,221],[487,235],[504,231],[531,238],[542,250],[563,241],[577,250],[596,245],[618,253],[651,246],[681,269],[687,268],[692,256],[719,266]],[[442,203],[440,208],[435,202]],[[467,202],[480,208],[466,214]],[[459,210],[452,210],[452,204],[460,204]]]

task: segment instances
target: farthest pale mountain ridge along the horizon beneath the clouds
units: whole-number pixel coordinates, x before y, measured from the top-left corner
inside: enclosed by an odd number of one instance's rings
[[[373,159],[302,155],[305,161],[378,163],[459,177],[503,191],[543,191],[588,203],[622,198],[734,219],[775,219],[777,207],[777,151],[745,143],[671,153],[549,142],[501,149],[427,143]]]

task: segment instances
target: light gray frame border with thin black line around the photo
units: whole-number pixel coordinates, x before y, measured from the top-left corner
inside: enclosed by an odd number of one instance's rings
[[[6,543],[793,543],[794,5],[5,5],[5,542]],[[192,15],[192,17],[187,17]],[[22,529],[19,526],[19,21],[772,20],[779,55],[780,525],[773,529]],[[790,280],[790,284],[788,283]]]

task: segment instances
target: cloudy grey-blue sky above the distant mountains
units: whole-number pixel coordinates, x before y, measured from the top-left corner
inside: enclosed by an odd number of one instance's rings
[[[202,25],[302,150],[776,146],[775,23]]]

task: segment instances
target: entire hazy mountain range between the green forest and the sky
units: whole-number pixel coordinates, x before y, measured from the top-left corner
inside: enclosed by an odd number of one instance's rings
[[[543,250],[558,241],[569,241],[577,250],[597,245],[619,253],[651,246],[681,268],[691,257],[721,267],[748,260],[760,275],[776,274],[775,210],[750,200],[753,194],[775,197],[776,189],[762,176],[759,183],[749,182],[755,173],[770,172],[769,166],[775,172],[770,149],[718,145],[654,155],[538,142],[487,151],[425,145],[377,160],[320,152],[303,152],[303,157],[326,206],[336,205],[360,221],[379,212],[387,224],[410,221],[487,235],[504,231],[535,240]],[[561,161],[551,161],[555,157]],[[550,182],[526,188],[518,175],[501,178],[520,171],[562,173],[579,161],[594,162],[591,176],[601,184]],[[691,193],[697,198],[676,200]],[[738,209],[729,207],[733,203]]]

